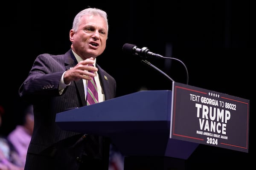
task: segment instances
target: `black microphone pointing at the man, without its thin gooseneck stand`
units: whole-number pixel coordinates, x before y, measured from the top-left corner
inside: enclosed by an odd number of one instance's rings
[[[128,44],[128,43],[123,45],[122,51],[126,54],[133,54],[133,55],[137,55],[137,56],[143,57],[143,58],[163,57],[159,54],[154,54],[154,53],[150,52],[149,49],[146,47],[143,47],[140,49],[136,45]]]

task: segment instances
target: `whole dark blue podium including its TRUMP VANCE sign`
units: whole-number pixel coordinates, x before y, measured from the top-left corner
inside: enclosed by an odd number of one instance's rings
[[[248,152],[249,100],[176,82],[172,91],[139,91],[57,113],[55,122],[109,137],[125,156],[124,170],[185,169],[199,144]]]

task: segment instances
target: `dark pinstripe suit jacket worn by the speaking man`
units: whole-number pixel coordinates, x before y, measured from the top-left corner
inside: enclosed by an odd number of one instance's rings
[[[76,64],[71,49],[62,55],[41,54],[20,86],[19,95],[34,105],[35,116],[25,170],[78,170],[82,155],[93,158],[104,155],[105,138],[99,137],[99,145],[92,150],[95,143],[90,138],[83,139],[83,134],[62,130],[55,123],[56,113],[86,105],[82,80],[71,82],[61,95],[58,91],[63,72]],[[99,65],[96,67],[105,99],[114,98],[115,79]]]

